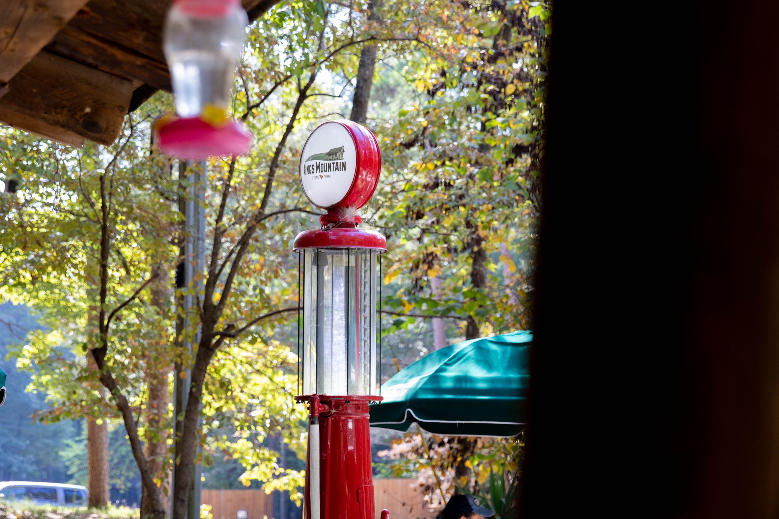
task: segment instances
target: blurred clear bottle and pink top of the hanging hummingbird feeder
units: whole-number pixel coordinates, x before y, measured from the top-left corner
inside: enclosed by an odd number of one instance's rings
[[[174,0],[164,51],[181,117],[227,109],[248,23],[238,0]]]

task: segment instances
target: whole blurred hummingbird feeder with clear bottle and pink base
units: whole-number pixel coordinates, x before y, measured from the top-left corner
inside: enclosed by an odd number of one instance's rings
[[[248,23],[240,0],[173,0],[163,47],[179,117],[157,123],[164,153],[200,160],[249,150],[251,133],[226,112]]]

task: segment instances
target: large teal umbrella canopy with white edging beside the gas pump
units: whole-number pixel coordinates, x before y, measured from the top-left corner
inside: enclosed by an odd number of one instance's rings
[[[446,436],[513,437],[524,429],[531,331],[446,346],[382,385],[371,426],[407,431],[418,423]]]

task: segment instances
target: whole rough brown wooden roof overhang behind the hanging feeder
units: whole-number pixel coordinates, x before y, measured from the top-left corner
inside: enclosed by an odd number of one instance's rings
[[[241,4],[254,20],[278,1]],[[171,91],[162,49],[170,5],[0,0],[0,122],[71,146],[111,144],[129,110]]]

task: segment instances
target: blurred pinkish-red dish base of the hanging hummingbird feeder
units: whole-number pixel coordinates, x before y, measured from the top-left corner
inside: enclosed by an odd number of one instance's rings
[[[157,146],[163,153],[183,159],[236,156],[249,151],[252,133],[238,121],[215,127],[199,117],[182,117],[158,130]]]

